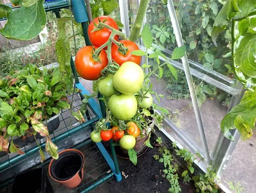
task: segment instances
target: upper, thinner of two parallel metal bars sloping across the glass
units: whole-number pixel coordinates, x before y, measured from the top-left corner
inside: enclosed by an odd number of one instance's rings
[[[172,51],[167,50],[167,49],[165,49],[165,48],[163,48],[163,47],[160,47],[160,46],[158,46],[157,44],[152,44],[152,47],[156,47],[157,49],[162,50],[163,52],[166,52],[167,54],[170,54],[170,55],[172,54]],[[204,71],[210,73],[210,74],[213,75],[213,76],[216,76],[217,78],[222,79],[223,81],[225,81],[225,82],[227,82],[227,83],[230,83],[230,84],[235,83],[235,81],[234,81],[233,79],[231,79],[231,78],[229,78],[229,77],[227,77],[227,76],[225,76],[225,75],[223,75],[223,74],[221,74],[221,73],[218,73],[218,72],[216,72],[215,70],[211,70],[211,69],[209,69],[209,68],[206,68],[206,67],[204,67],[203,65],[194,62],[193,60],[188,59],[188,63],[190,63],[190,64],[196,66],[197,68],[199,68],[199,69],[201,69],[201,70],[204,70]]]

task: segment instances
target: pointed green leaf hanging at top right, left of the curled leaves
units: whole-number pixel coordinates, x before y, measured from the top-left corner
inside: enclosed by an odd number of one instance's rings
[[[217,46],[216,39],[219,36],[219,33],[227,27],[227,21],[229,20],[228,16],[231,10],[231,2],[230,0],[228,0],[227,3],[225,3],[225,5],[219,11],[217,17],[214,20],[214,24],[212,27],[212,42],[214,42],[215,46]]]

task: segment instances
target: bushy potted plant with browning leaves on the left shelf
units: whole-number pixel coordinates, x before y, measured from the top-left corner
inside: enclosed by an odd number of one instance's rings
[[[47,126],[42,122],[62,109],[70,108],[66,89],[59,68],[39,70],[28,64],[13,75],[0,78],[0,138],[4,141],[0,150],[22,154],[13,138],[39,133],[46,137],[46,150],[57,159],[57,146],[52,143]],[[79,110],[76,113],[81,114]],[[82,116],[75,117],[84,121]]]

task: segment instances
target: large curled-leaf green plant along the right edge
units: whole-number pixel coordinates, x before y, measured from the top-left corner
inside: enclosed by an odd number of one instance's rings
[[[221,122],[221,130],[225,137],[233,140],[230,133],[238,129],[242,140],[252,136],[256,122],[256,8],[255,1],[227,0],[217,15],[212,28],[212,40],[217,46],[216,39],[220,32],[232,23],[232,68],[236,78],[248,90],[240,104],[227,113]]]

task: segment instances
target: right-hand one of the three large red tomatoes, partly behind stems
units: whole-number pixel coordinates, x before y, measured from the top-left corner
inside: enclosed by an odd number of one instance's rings
[[[122,65],[127,61],[131,61],[140,65],[141,56],[136,56],[131,54],[133,50],[139,50],[137,44],[130,40],[121,40],[120,42],[123,43],[124,47],[128,48],[128,50],[126,51],[126,55],[123,55],[123,53],[118,52],[118,48],[119,48],[118,45],[113,44],[111,47],[112,59],[119,65]]]

